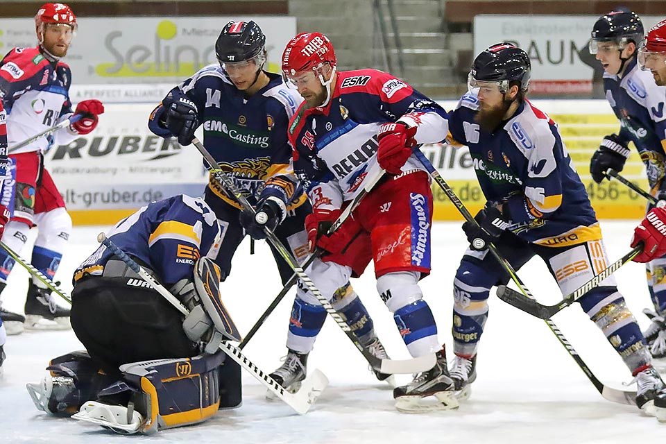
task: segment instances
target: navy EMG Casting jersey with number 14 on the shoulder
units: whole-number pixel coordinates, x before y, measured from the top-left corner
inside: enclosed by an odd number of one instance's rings
[[[208,65],[170,94],[185,94],[194,101],[206,149],[239,189],[258,196],[266,185],[268,195],[281,198],[293,208],[304,203],[306,197],[302,189],[293,186],[296,180],[287,125],[302,98],[287,87],[281,76],[266,74],[270,78],[268,85],[246,97],[218,64]],[[151,113],[148,128],[161,137],[172,137],[160,123],[165,111],[160,103]],[[293,180],[283,180],[283,176]],[[225,202],[240,208],[212,175],[209,186]]]

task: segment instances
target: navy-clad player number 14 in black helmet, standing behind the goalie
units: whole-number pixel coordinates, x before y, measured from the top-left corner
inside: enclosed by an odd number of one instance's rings
[[[223,279],[229,275],[231,259],[245,235],[264,239],[264,227],[273,230],[300,262],[309,253],[305,216],[311,212],[311,205],[293,175],[287,139],[289,118],[302,99],[281,76],[264,69],[265,44],[266,37],[255,22],[226,24],[215,44],[219,63],[201,69],[173,88],[148,123],[156,135],[178,137],[182,145],[191,143],[194,130],[203,123],[207,150],[247,193],[250,202],[257,203],[257,213],[266,216],[260,223],[251,214],[241,212],[241,205],[211,174],[205,200],[225,227],[216,259]],[[273,246],[271,250],[284,284],[293,271]],[[329,267],[316,260],[307,273],[315,279]],[[377,357],[386,358],[370,314],[348,280],[334,288],[329,288],[330,284],[318,282],[318,288],[333,298],[333,307],[343,314],[361,344]],[[307,356],[325,321],[325,311],[314,301],[299,283],[287,337],[289,353],[284,364],[271,373],[275,381],[291,390],[298,389],[305,379]],[[379,373],[377,377],[388,375]]]

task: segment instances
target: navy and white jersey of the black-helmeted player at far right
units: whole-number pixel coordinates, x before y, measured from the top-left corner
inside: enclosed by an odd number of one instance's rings
[[[622,78],[604,73],[606,99],[620,119],[620,139],[638,148],[653,194],[666,189],[666,87],[657,86],[650,71],[633,58]]]

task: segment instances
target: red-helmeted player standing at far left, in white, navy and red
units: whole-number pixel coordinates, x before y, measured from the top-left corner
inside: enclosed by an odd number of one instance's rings
[[[64,3],[46,3],[35,15],[38,44],[35,48],[14,48],[0,62],[0,98],[7,110],[10,146],[56,126],[71,117],[69,85],[71,71],[60,59],[65,57],[76,34],[76,16]],[[14,213],[2,241],[21,253],[28,230],[37,225],[31,263],[53,279],[71,232],[71,218],[65,202],[44,168],[44,151],[53,144],[67,144],[78,135],[90,133],[97,126],[100,101],[85,100],[76,106],[83,118],[68,128],[41,137],[10,153],[15,165]],[[0,291],[14,260],[0,249]],[[0,311],[3,321],[12,321],[10,334],[26,328],[60,330],[69,328],[69,309],[56,305],[51,291],[36,278],[28,282],[25,314]],[[8,322],[8,325],[10,323]],[[17,327],[17,328],[14,328]]]

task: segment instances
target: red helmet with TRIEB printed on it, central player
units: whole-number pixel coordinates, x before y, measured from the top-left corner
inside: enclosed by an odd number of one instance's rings
[[[282,72],[285,76],[295,76],[302,71],[319,70],[325,64],[335,67],[336,58],[333,44],[321,33],[300,33],[289,40],[282,53]]]

